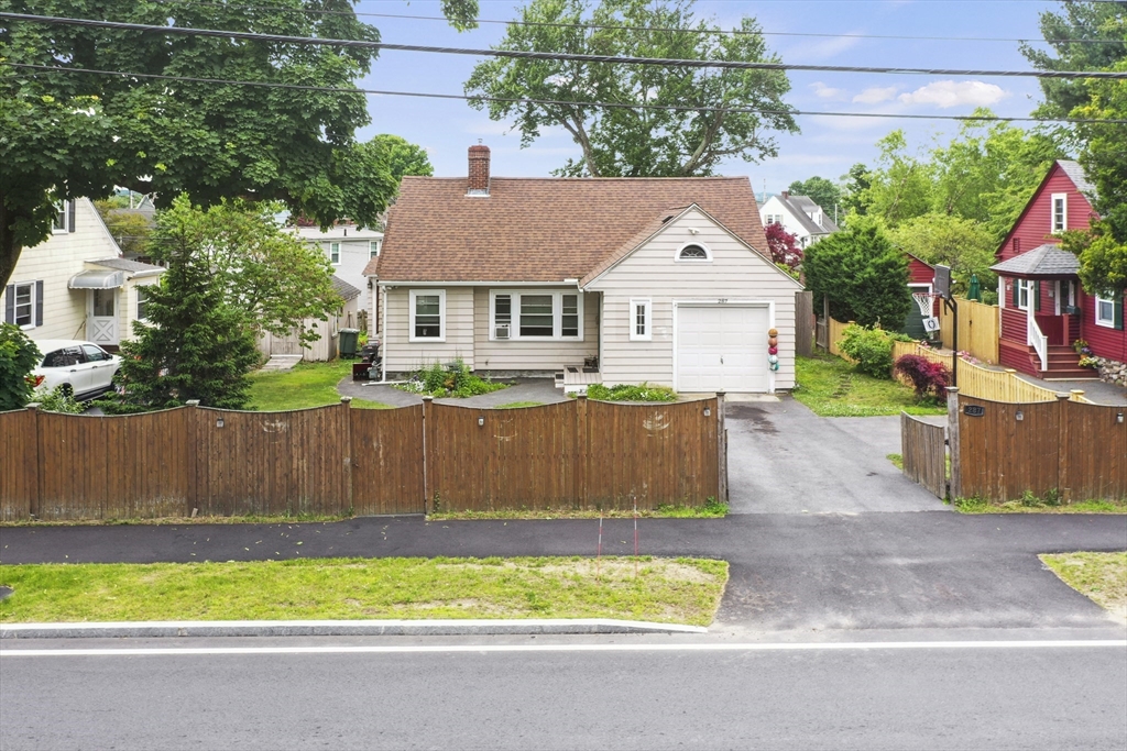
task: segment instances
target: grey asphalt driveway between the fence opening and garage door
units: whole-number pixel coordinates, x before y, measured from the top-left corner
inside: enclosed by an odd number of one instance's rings
[[[727,417],[731,513],[948,508],[888,461],[900,453],[899,417],[819,418],[790,396],[731,403]]]

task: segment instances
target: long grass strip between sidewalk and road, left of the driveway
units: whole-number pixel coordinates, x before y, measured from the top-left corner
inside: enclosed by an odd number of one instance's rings
[[[728,580],[703,558],[307,558],[0,565],[2,623],[625,618],[707,626]]]

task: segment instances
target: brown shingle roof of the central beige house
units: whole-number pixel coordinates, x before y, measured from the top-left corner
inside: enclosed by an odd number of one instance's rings
[[[696,204],[766,249],[751,181],[742,178],[406,177],[383,248],[365,274],[388,281],[562,281],[586,276],[671,206]],[[648,234],[646,235],[648,236]]]

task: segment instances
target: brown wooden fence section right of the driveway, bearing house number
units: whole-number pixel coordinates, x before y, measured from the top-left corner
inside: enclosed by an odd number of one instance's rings
[[[961,393],[951,400],[952,495],[1127,499],[1127,408],[1065,395],[1024,404]]]

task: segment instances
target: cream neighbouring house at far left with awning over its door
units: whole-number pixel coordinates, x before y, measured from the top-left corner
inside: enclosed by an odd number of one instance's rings
[[[46,241],[24,249],[0,309],[33,340],[85,339],[113,350],[144,319],[145,287],[163,272],[121,258],[98,209],[79,198],[61,207]]]

